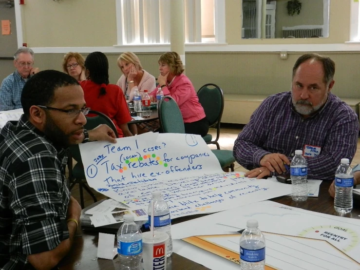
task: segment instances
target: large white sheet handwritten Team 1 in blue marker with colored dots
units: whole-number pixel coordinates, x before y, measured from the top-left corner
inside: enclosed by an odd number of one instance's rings
[[[161,191],[171,217],[218,212],[291,193],[275,179],[225,174],[200,135],[146,133],[80,145],[86,179],[100,193],[147,209]]]

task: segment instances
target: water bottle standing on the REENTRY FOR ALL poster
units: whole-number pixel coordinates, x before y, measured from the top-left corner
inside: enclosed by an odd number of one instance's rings
[[[265,237],[258,229],[258,221],[250,219],[240,237],[240,269],[264,270]]]

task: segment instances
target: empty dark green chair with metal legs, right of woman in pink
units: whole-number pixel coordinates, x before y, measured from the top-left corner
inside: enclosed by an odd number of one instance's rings
[[[220,136],[220,121],[224,111],[224,94],[219,86],[213,83],[203,85],[197,92],[200,104],[203,106],[205,115],[208,118],[209,126],[216,129],[216,138],[212,140],[212,135],[207,134],[203,137],[207,144],[215,144],[220,150],[218,143]]]

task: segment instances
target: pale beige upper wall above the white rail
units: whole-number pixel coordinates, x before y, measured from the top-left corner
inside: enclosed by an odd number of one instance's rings
[[[225,0],[229,44],[293,44],[291,39],[241,39],[242,0]],[[306,1],[302,0],[305,13]],[[283,5],[286,0],[278,0]],[[30,47],[113,46],[117,42],[115,0],[27,0],[23,10],[24,42]],[[304,43],[343,43],[349,39],[350,0],[330,0],[330,35],[297,39]],[[295,18],[295,16],[294,16]]]

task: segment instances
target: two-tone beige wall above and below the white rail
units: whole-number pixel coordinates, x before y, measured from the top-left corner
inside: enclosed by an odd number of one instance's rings
[[[74,11],[76,7],[76,11]],[[24,6],[29,46],[112,46],[116,41],[115,0],[27,0]],[[241,0],[226,0],[227,42],[230,44],[343,43],[349,36],[350,0],[330,0],[328,39],[241,39]],[[360,52],[326,53],[337,64],[333,92],[360,98]],[[144,68],[158,76],[158,53],[137,53]],[[291,68],[300,53],[197,52],[186,54],[186,74],[195,89],[205,83],[218,84],[225,93],[271,95],[290,87]],[[107,54],[110,81],[120,77],[118,54]],[[37,54],[41,69],[61,70],[63,54]],[[1,68],[1,67],[0,67]],[[2,78],[0,78],[2,79]]]

